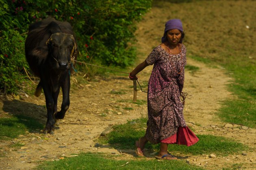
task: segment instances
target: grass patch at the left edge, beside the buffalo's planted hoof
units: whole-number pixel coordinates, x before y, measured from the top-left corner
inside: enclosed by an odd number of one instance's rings
[[[15,117],[0,118],[0,140],[11,140],[27,131],[43,129],[43,125],[33,118],[22,115]]]

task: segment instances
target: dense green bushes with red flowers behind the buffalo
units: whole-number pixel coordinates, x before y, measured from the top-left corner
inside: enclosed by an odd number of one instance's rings
[[[134,22],[152,0],[0,0],[0,89],[15,93],[28,65],[24,41],[29,24],[48,16],[73,26],[78,60],[126,67],[135,59]],[[80,66],[80,71],[83,67]]]

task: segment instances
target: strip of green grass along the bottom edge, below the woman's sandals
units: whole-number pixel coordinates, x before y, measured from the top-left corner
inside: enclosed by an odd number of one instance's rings
[[[187,164],[185,161],[170,160],[157,161],[156,159],[115,160],[114,156],[103,154],[81,153],[78,157],[66,158],[60,161],[48,161],[35,169],[42,170],[202,170],[200,167]],[[127,163],[129,162],[129,163]],[[127,163],[127,164],[126,164]],[[125,165],[126,164],[126,165]]]

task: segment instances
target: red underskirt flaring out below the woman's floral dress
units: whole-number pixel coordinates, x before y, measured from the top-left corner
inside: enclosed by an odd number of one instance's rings
[[[189,127],[178,127],[177,133],[169,138],[161,140],[161,143],[168,144],[183,144],[187,146],[191,146],[198,142],[197,136],[189,129]]]

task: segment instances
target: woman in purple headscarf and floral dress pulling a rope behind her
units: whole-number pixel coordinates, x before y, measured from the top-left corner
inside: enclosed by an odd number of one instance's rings
[[[162,43],[155,47],[144,62],[130,72],[130,80],[137,73],[153,65],[148,83],[148,122],[145,136],[136,141],[136,154],[143,155],[146,142],[161,143],[157,159],[177,159],[167,151],[168,144],[191,146],[198,141],[187,127],[183,117],[180,94],[184,84],[186,47],[182,44],[184,32],[180,19],[165,24]]]

